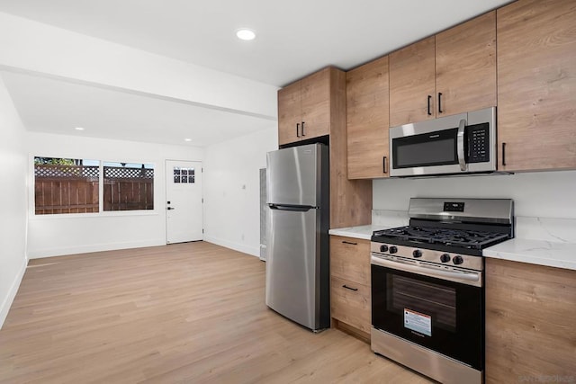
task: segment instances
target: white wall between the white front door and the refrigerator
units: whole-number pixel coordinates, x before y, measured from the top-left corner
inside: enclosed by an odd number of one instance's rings
[[[249,255],[260,255],[260,168],[278,148],[270,129],[206,148],[204,239]]]

